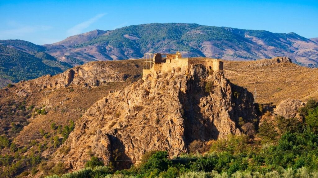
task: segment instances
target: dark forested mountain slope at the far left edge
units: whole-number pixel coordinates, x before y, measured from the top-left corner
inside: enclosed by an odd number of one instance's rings
[[[55,75],[72,66],[47,54],[45,48],[22,40],[0,41],[0,87],[20,80]]]

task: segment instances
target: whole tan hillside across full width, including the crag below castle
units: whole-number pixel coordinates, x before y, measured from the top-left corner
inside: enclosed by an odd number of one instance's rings
[[[302,101],[307,101],[309,97],[318,99],[317,69],[290,63],[288,58],[224,62],[224,76],[217,73],[207,76],[203,68],[198,68],[193,69],[195,72],[192,74],[184,75],[184,71],[180,70],[175,71],[174,76],[160,74],[142,82],[139,80],[142,60],[98,61],[67,69],[55,76],[46,75],[1,89],[0,135],[8,139],[5,142],[2,142],[5,140],[3,137],[0,139],[1,144],[8,143],[0,145],[1,155],[31,160],[54,157],[84,159],[94,153],[105,159],[113,159],[117,154],[116,148],[121,150],[123,147],[108,144],[114,148],[113,155],[110,155],[100,151],[105,148],[101,143],[107,143],[107,138],[111,142],[120,138],[124,140],[128,149],[126,156],[130,158],[140,158],[141,152],[153,148],[169,149],[172,145],[181,145],[178,149],[170,149],[169,156],[172,157],[187,152],[193,140],[206,142],[224,138],[227,133],[239,133],[238,117],[245,114],[245,119],[252,118],[248,117],[250,109],[243,106],[252,105],[250,92],[255,87],[258,103],[273,102],[277,105],[288,98]],[[213,81],[211,94],[204,92],[205,81]],[[246,87],[249,92],[239,86]],[[233,91],[243,98],[236,99]],[[241,102],[245,104],[241,105]],[[139,105],[142,107],[137,107]],[[220,109],[222,114],[215,113]],[[197,112],[203,113],[199,122],[199,118],[194,117]],[[154,115],[158,119],[153,118]],[[210,115],[214,117],[213,122],[207,118]],[[145,120],[144,117],[152,119]],[[95,122],[96,119],[99,122]],[[160,127],[156,124],[158,120]],[[149,130],[143,132],[143,137],[140,136],[142,140],[129,137],[140,135],[142,129]],[[153,132],[156,129],[159,131]],[[184,133],[184,137],[176,132]],[[96,133],[100,134],[101,140]],[[153,142],[150,138],[159,140]],[[15,147],[11,149],[12,143]],[[60,147],[62,143],[64,145]],[[146,143],[149,147],[143,146],[143,150],[133,151],[138,149],[137,145]],[[83,163],[66,162],[65,168],[69,168],[67,165],[72,165],[74,169],[83,168]],[[38,171],[48,173],[55,164],[27,161],[10,162],[10,165],[2,163],[2,166],[10,167],[11,172],[6,173],[13,177],[23,171],[30,173],[32,167],[36,167],[35,174]]]

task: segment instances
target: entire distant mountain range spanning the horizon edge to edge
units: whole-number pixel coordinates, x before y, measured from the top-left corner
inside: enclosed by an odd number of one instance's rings
[[[21,79],[60,73],[90,61],[138,59],[144,53],[176,51],[184,57],[205,56],[224,60],[287,56],[302,66],[318,67],[318,38],[187,23],[151,23],[114,30],[93,30],[43,46],[21,40],[1,40],[0,45],[1,61],[6,61],[1,63],[1,86]],[[25,66],[28,63],[38,68]],[[25,71],[26,75],[20,71]]]

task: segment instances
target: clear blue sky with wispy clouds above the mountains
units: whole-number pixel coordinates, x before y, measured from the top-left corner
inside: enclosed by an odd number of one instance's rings
[[[39,45],[94,29],[154,22],[264,29],[318,37],[318,0],[0,0],[0,16],[0,39],[21,39]]]

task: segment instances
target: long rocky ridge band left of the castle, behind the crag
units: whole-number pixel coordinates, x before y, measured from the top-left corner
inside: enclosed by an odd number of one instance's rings
[[[127,62],[127,66],[139,68],[136,62]],[[137,62],[141,63],[141,62]],[[106,82],[121,82],[130,76],[134,76],[138,70],[118,71],[120,62],[112,65],[106,62],[91,62],[66,70],[58,75],[46,75],[29,81],[20,81],[16,85],[26,92],[35,88],[59,89],[74,85],[96,87]],[[127,77],[128,76],[128,77]]]

